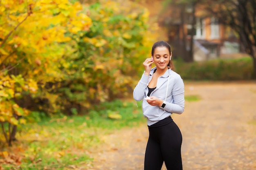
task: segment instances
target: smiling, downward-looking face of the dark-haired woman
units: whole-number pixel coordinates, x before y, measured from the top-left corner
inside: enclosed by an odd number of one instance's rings
[[[165,46],[155,48],[153,59],[156,67],[159,69],[168,68],[170,55],[169,50]]]

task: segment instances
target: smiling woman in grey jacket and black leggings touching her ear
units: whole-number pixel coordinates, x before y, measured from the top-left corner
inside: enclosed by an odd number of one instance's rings
[[[161,170],[163,162],[168,170],[182,170],[182,135],[171,114],[184,111],[184,83],[172,70],[171,56],[167,42],[155,42],[151,58],[143,63],[144,74],[133,91],[136,101],[143,99],[142,110],[149,130],[144,170]],[[156,67],[151,68],[153,63]]]

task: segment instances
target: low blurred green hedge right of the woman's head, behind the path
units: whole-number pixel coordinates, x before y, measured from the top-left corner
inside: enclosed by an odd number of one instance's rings
[[[251,57],[184,63],[175,60],[175,71],[184,80],[249,80],[253,78]]]

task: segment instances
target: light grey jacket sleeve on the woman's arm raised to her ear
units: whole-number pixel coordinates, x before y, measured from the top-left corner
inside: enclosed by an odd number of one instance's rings
[[[136,101],[140,101],[141,99],[143,99],[144,94],[145,94],[145,90],[146,90],[147,85],[148,85],[148,79],[149,79],[149,76],[147,76],[143,73],[143,75],[141,76],[141,79],[139,80],[137,86],[134,88],[133,98]]]

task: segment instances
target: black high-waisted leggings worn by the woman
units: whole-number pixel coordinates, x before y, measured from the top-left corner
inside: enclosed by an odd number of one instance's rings
[[[145,153],[144,170],[182,170],[180,129],[171,117],[148,126],[149,137]]]

